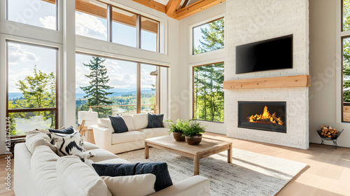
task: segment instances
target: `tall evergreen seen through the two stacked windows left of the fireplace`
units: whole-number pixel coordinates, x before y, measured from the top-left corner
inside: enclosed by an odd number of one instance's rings
[[[195,54],[224,47],[224,20],[209,23],[202,28],[202,40]],[[197,66],[195,73],[195,116],[200,120],[223,121],[223,70],[224,64]]]

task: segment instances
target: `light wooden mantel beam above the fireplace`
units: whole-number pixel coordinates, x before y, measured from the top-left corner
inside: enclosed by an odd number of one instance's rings
[[[223,89],[229,89],[229,90],[272,88],[272,87],[309,87],[309,86],[311,86],[311,77],[309,75],[226,80],[223,82]]]

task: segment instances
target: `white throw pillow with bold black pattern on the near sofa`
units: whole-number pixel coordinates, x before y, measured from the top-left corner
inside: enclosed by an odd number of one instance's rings
[[[79,132],[74,132],[73,134],[51,133],[51,135],[55,140],[55,147],[59,156],[73,155],[85,151],[83,139]]]

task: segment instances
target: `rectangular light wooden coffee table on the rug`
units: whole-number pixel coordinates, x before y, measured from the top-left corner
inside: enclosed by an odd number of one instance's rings
[[[193,158],[195,175],[200,174],[200,159],[228,151],[228,162],[232,163],[232,142],[202,138],[199,145],[189,145],[186,141],[175,141],[172,135],[145,139],[145,158],[149,158],[149,146]]]

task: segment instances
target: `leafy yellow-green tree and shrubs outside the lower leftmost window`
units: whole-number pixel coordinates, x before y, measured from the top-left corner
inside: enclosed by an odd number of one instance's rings
[[[8,102],[8,109],[41,109],[55,108],[56,106],[56,79],[55,71],[43,73],[34,66],[33,74],[25,76],[23,80],[16,83],[23,97],[13,99]],[[10,118],[10,134],[22,135],[23,130],[16,128],[15,118],[22,118],[28,123],[35,123],[31,120],[34,116],[43,116],[43,120],[49,120],[50,124],[46,127],[55,128],[55,113],[52,111],[34,111],[30,113],[8,113]]]

